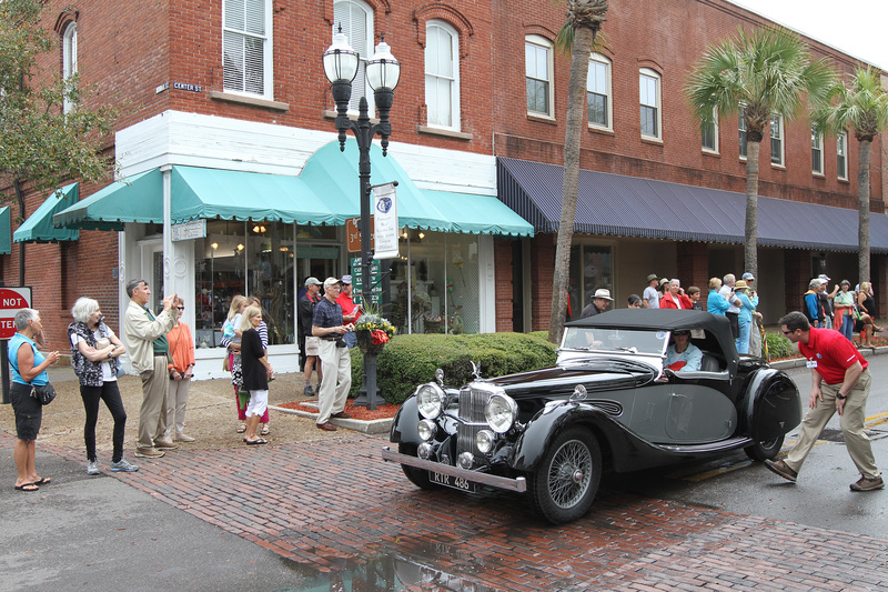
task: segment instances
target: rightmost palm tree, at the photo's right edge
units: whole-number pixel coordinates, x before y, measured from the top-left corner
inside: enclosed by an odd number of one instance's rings
[[[872,68],[858,67],[850,83],[837,82],[833,88],[834,101],[814,113],[815,127],[821,131],[841,133],[854,130],[860,142],[857,163],[857,207],[859,248],[857,265],[859,281],[869,281],[869,164],[872,139],[888,128],[888,92],[881,88],[879,74]]]

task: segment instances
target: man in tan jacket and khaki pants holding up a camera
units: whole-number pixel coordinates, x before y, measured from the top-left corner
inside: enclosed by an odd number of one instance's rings
[[[175,294],[163,299],[163,312],[157,318],[148,310],[151,290],[144,280],[131,280],[127,284],[130,304],[123,314],[123,339],[130,352],[132,367],[142,379],[142,407],[139,410],[139,441],[135,455],[159,459],[165,450],[175,450],[172,440],[164,438],[167,414],[163,405],[170,375],[167,373],[167,354],[170,344],[167,333],[175,327],[172,302]]]

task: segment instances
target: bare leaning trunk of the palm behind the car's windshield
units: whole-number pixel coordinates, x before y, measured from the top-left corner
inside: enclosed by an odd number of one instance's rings
[[[586,27],[574,31],[571,52],[571,86],[567,90],[567,120],[564,138],[564,184],[562,187],[562,219],[555,247],[555,274],[553,278],[552,317],[548,322],[548,340],[561,343],[564,317],[567,310],[567,278],[571,270],[571,243],[574,239],[574,218],[579,183],[579,141],[585,122],[586,77],[589,71],[589,54],[595,32]],[[581,301],[581,305],[582,305]]]

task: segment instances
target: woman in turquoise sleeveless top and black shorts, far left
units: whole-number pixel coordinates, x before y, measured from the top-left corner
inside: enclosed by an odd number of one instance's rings
[[[37,434],[43,420],[43,407],[31,397],[34,387],[49,384],[47,368],[59,360],[59,352],[46,357],[37,350],[43,344],[43,323],[40,313],[33,309],[21,309],[16,313],[16,330],[9,340],[9,365],[12,369],[12,383],[9,399],[16,414],[16,491],[40,491],[40,485],[50,482],[48,476],[37,474],[34,466]]]

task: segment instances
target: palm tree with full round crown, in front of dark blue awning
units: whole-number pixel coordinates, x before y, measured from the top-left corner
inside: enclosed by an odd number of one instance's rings
[[[775,116],[791,119],[805,96],[821,104],[835,81],[826,59],[813,62],[808,47],[785,29],[739,30],[737,40],[708,47],[685,87],[700,126],[717,117],[746,123],[746,228],[744,270],[758,278],[758,154]]]

